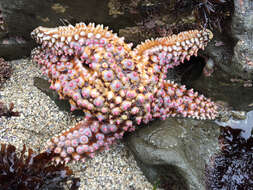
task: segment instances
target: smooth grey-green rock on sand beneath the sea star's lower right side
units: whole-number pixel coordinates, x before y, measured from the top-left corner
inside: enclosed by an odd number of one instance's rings
[[[205,165],[218,147],[219,127],[211,121],[169,118],[126,138],[148,179],[164,188],[205,189]]]

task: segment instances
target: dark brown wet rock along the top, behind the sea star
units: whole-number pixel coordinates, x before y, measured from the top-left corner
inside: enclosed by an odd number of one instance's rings
[[[201,28],[203,23],[197,23],[198,19],[193,13],[198,7],[196,2],[2,0],[0,56],[6,59],[29,56],[34,46],[30,32],[38,26],[56,27],[78,22],[96,22],[109,26],[113,31],[119,32],[119,35],[124,35],[128,42],[135,44],[151,37]]]

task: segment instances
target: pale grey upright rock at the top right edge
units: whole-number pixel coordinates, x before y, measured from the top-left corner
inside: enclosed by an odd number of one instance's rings
[[[232,65],[242,78],[253,78],[253,2],[234,0],[232,37],[236,40]]]

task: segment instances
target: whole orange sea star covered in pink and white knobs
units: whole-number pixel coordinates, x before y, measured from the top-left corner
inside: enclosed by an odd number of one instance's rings
[[[94,157],[153,118],[217,115],[210,99],[166,80],[168,68],[204,49],[212,39],[208,29],[147,40],[133,50],[103,25],[38,27],[31,35],[41,45],[33,60],[42,65],[51,88],[69,100],[72,111],[85,113],[83,121],[48,142],[57,161]]]

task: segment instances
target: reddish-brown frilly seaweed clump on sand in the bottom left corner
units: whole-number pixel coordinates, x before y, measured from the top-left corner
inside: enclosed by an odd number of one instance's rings
[[[78,189],[79,179],[70,177],[72,171],[64,164],[52,164],[53,153],[35,154],[26,147],[20,155],[13,145],[1,144],[0,148],[0,189],[41,190],[63,189],[60,184],[72,181],[71,189]]]

